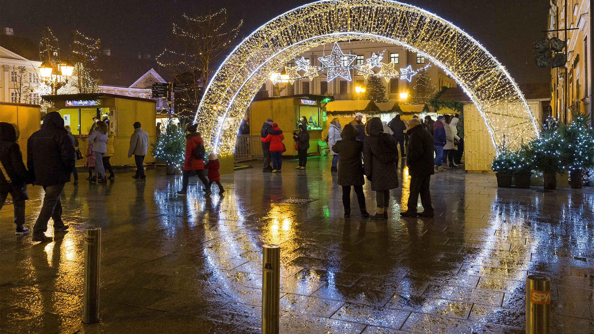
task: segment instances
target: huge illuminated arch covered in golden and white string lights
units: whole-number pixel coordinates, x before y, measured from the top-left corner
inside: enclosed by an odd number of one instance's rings
[[[208,149],[232,153],[249,103],[268,73],[325,43],[402,45],[443,68],[470,96],[495,149],[538,136],[532,112],[503,65],[467,33],[421,8],[390,0],[326,0],[279,15],[246,37],[213,75],[195,122]]]

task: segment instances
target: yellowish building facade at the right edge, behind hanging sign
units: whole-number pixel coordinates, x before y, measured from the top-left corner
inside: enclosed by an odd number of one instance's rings
[[[547,37],[567,41],[567,63],[551,70],[551,116],[559,121],[570,122],[573,112],[592,115],[591,4],[592,0],[551,1]]]

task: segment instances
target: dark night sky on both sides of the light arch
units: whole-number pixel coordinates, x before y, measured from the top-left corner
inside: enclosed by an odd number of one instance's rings
[[[244,19],[241,36],[285,11],[308,2],[190,0],[1,0],[0,26],[38,42],[50,27],[67,46],[72,31],[102,39],[113,56],[139,52],[158,55],[166,45],[171,23],[182,14],[228,9],[233,20]],[[544,39],[549,2],[545,0],[416,0],[409,2],[451,21],[482,43],[507,67],[518,83],[548,81],[548,71],[534,63],[534,42]]]

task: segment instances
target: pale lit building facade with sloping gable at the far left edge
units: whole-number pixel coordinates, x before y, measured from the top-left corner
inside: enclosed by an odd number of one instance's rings
[[[0,102],[39,105],[40,65],[0,46]]]

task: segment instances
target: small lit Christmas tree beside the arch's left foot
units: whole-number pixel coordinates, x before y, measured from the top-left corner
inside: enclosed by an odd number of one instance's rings
[[[175,175],[175,169],[184,164],[185,131],[172,118],[168,119],[159,139],[151,143],[151,155],[166,163],[167,175]]]

